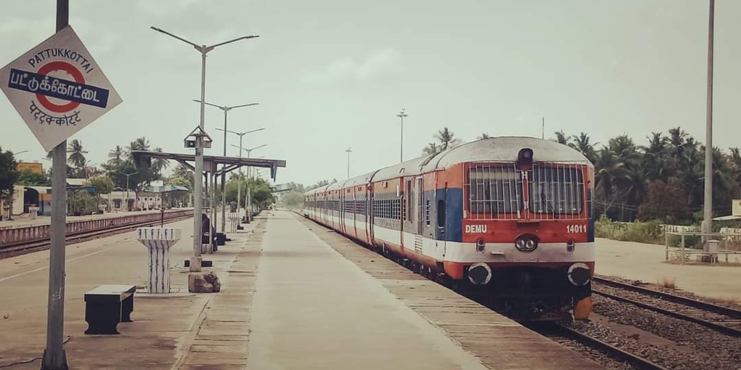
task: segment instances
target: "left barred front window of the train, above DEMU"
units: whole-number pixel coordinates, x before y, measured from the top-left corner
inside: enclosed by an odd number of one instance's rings
[[[509,218],[508,214],[519,214],[522,209],[521,173],[512,165],[471,166],[468,209],[476,218]]]

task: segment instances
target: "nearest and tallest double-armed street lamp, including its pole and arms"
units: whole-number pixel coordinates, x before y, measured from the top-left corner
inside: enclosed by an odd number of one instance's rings
[[[177,38],[180,41],[185,42],[186,44],[189,44],[193,48],[199,51],[201,53],[201,121],[200,121],[200,129],[202,132],[205,132],[205,124],[204,124],[204,111],[205,111],[205,100],[206,100],[206,54],[213,50],[216,47],[230,44],[235,41],[239,40],[246,40],[248,38],[256,38],[259,37],[257,35],[250,35],[250,36],[242,36],[239,38],[234,38],[233,40],[220,42],[219,44],[213,44],[210,46],[207,45],[198,45],[193,42],[187,41],[185,38],[175,36],[172,33],[169,33],[165,30],[159,29],[157,27],[150,27],[152,30],[156,30],[159,33],[164,33],[167,36]],[[193,191],[195,194],[195,201],[193,202],[194,210],[193,210],[193,258],[190,260],[190,272],[200,272],[201,271],[201,214],[203,212],[202,204],[201,204],[201,198],[203,196],[203,137],[202,136],[196,136],[196,169],[195,173],[193,174]]]

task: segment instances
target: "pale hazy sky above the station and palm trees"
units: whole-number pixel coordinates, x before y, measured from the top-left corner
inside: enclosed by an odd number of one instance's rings
[[[55,30],[52,0],[4,1],[0,66]],[[714,145],[741,146],[741,1],[715,4]],[[488,135],[587,132],[604,144],[627,133],[682,127],[705,140],[708,1],[701,0],[70,0],[70,24],[123,103],[70,139],[93,164],[146,137],[189,152],[199,124],[201,58],[187,44],[259,35],[211,51],[206,101],[257,102],[229,112],[253,157],[284,159],[276,183],[313,184],[411,159],[449,127]],[[207,155],[221,155],[223,112],[206,107]],[[44,150],[4,96],[0,147],[23,161]],[[236,135],[227,153],[236,156]],[[598,145],[599,147],[599,145]],[[175,166],[173,163],[172,166]]]

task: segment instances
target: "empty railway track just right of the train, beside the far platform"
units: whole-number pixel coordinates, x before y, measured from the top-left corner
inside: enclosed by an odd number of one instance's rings
[[[741,337],[741,311],[680,297],[654,289],[594,277],[592,292],[620,302],[690,321],[733,337]],[[600,289],[599,285],[606,289]]]

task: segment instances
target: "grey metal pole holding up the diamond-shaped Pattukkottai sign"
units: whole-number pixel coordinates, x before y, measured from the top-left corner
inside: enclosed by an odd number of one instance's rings
[[[67,27],[70,1],[56,1],[56,31]],[[64,353],[64,249],[67,234],[67,141],[52,149],[51,248],[46,349],[41,369],[69,369]],[[13,213],[13,211],[10,211]]]

